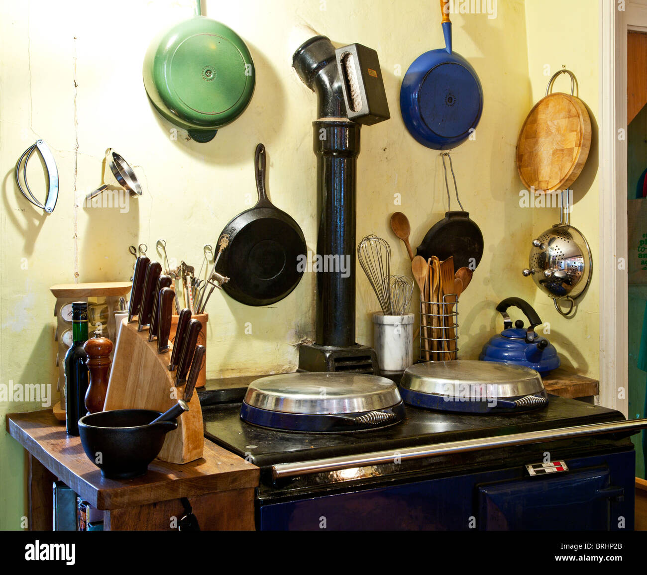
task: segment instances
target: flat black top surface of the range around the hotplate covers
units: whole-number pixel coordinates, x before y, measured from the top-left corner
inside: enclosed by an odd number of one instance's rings
[[[503,415],[427,411],[406,406],[403,422],[371,431],[294,433],[260,428],[241,420],[240,403],[203,407],[204,436],[264,468],[369,451],[509,435],[524,431],[622,421],[619,411],[549,396],[545,409]]]

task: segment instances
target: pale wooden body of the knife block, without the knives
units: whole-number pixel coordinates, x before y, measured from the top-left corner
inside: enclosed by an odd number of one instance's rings
[[[137,331],[137,321],[122,320],[122,331],[113,358],[104,410],[155,409],[166,411],[184,396],[184,385],[175,387],[175,371],[168,371],[169,351],[157,353],[157,340],[148,342],[148,328]],[[177,418],[178,426],[166,434],[162,461],[188,463],[203,455],[203,418],[197,393],[189,402],[189,411]]]

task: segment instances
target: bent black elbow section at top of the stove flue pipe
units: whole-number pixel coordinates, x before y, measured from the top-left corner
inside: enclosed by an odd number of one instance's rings
[[[333,43],[325,36],[305,41],[292,56],[292,67],[317,94],[318,118],[346,118],[342,78]]]

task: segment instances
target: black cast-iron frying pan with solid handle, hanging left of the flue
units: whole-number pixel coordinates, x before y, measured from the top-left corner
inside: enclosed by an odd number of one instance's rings
[[[276,208],[265,192],[265,146],[254,160],[258,202],[239,213],[221,233],[229,243],[217,271],[230,280],[223,290],[245,305],[270,305],[285,298],[303,276],[299,256],[307,248],[303,232],[290,215]],[[305,259],[302,260],[305,262]]]

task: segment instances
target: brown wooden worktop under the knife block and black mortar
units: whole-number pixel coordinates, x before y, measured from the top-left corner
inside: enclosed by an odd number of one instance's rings
[[[155,459],[146,475],[116,480],[102,477],[86,457],[80,438],[67,435],[65,422],[51,409],[8,413],[6,429],[50,472],[101,510],[258,486],[258,467],[208,440],[201,459],[183,465]]]

